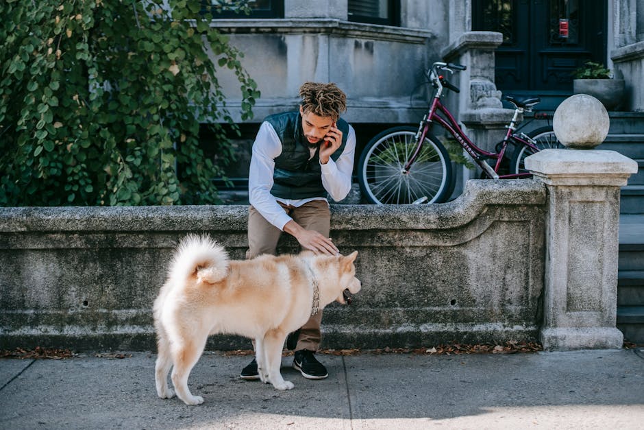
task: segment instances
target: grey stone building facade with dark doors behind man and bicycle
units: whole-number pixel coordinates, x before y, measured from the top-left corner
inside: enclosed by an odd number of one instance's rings
[[[229,174],[239,189],[262,119],[297,108],[306,81],[336,82],[345,90],[343,117],[356,128],[358,151],[385,128],[420,121],[432,93],[425,70],[435,61],[467,65],[451,78],[461,92],[447,104],[488,149],[511,116],[501,95],[541,97],[539,108],[552,114],[572,94],[571,72],[586,60],[626,80],[622,110],[644,111],[644,0],[263,0],[251,6],[249,16],[212,21],[245,53],[243,65],[262,93],[253,119],[235,118],[245,139]],[[220,82],[234,113],[236,79],[224,74]],[[461,171],[462,178],[475,176]]]

